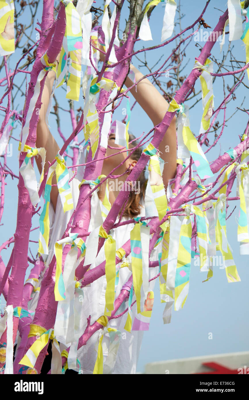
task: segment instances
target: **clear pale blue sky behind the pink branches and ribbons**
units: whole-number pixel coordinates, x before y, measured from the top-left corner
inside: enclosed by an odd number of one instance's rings
[[[181,20],[181,28],[189,26],[194,22],[201,14],[205,6],[205,1],[201,0],[199,2],[181,2],[183,5],[181,6],[181,14],[184,17]],[[177,1],[179,4],[179,1]],[[218,4],[218,5],[217,5]],[[125,2],[125,9],[122,11],[122,19],[120,22],[120,31],[124,29],[125,18],[127,18],[127,5],[128,2]],[[42,2],[39,4],[39,13],[38,18],[41,18],[41,6]],[[100,6],[103,8],[103,2],[97,0],[96,6]],[[218,7],[221,11],[216,10],[215,7]],[[217,3],[215,0],[211,0],[207,11],[205,13],[204,19],[212,28],[215,27],[219,20],[219,16],[227,8],[227,2],[225,0],[220,0]],[[113,7],[112,7],[113,9]],[[153,45],[157,45],[161,43],[161,28],[163,24],[163,13],[164,7],[163,3],[159,4],[155,10],[153,10],[149,25],[151,27],[151,33],[153,37],[153,41],[139,41],[135,44],[135,50],[139,50],[140,48],[149,47]],[[176,14],[175,22],[178,21],[179,15]],[[27,16],[23,16],[23,18],[27,18]],[[244,24],[245,25],[245,24]],[[197,25],[195,25],[195,29]],[[209,31],[211,29],[208,29]],[[179,32],[179,25],[175,26],[175,32]],[[190,34],[191,30],[187,32]],[[121,34],[120,34],[121,35]],[[36,40],[36,32],[32,33],[32,40]],[[185,53],[186,57],[183,61],[183,65],[186,64],[181,75],[188,75],[193,68],[193,64],[195,61],[195,57],[199,56],[199,48],[195,46],[196,42],[192,40],[190,44],[188,44]],[[201,46],[204,45],[204,42],[199,42]],[[212,55],[217,58],[218,61],[221,61],[223,57],[223,52],[227,51],[229,46],[228,35],[225,37],[225,44],[223,46],[223,51],[220,53],[219,42],[217,42],[213,48]],[[231,43],[231,47],[233,46],[233,54],[237,60],[245,60],[245,49],[244,44],[241,40],[237,40]],[[158,65],[163,63],[163,60],[171,54],[171,51],[175,47],[175,43],[172,42],[167,46],[163,46],[160,49],[147,51],[146,58],[148,65],[152,67],[155,64],[155,61],[161,61]],[[18,60],[20,55],[20,50],[18,50],[18,54],[12,57],[13,60]],[[143,56],[141,55],[141,59]],[[229,63],[230,58],[227,58],[227,65]],[[133,58],[133,64],[141,70],[143,74],[146,74],[148,70],[145,67],[140,67],[140,62]],[[13,70],[15,64],[10,64],[9,68]],[[228,67],[229,68],[229,67]],[[155,68],[154,68],[155,69]],[[231,67],[230,67],[231,69]],[[216,67],[215,67],[216,71]],[[3,76],[4,71],[2,70],[0,78]],[[19,83],[18,80],[23,78],[20,77],[19,74],[16,78],[16,84]],[[165,84],[169,78],[162,78]],[[245,75],[244,78],[245,84],[248,86],[248,78]],[[225,91],[226,95],[227,84],[231,86],[233,83],[233,78],[225,77]],[[195,90],[196,92],[200,89],[200,83],[196,82]],[[60,92],[58,91],[57,98],[60,100],[60,105],[63,108],[68,109],[68,103],[65,99],[66,92],[60,88]],[[214,82],[214,95],[215,95],[215,108],[221,103],[223,100],[223,80],[222,78],[216,78]],[[199,98],[200,96],[197,96]],[[239,90],[236,91],[236,99],[229,104],[227,104],[226,115],[227,117],[231,116],[236,107],[240,107],[241,103],[244,99],[247,98],[247,88],[244,86],[240,86]],[[245,98],[243,107],[247,107],[247,99]],[[153,99],[151,99],[153,101]],[[194,99],[195,101],[195,99]],[[24,96],[18,97],[18,106],[16,106],[17,110],[21,110],[24,105]],[[131,104],[133,104],[132,96],[131,96]],[[126,104],[126,100],[124,105],[122,104],[120,110],[117,110],[114,114],[115,119],[120,119],[122,117],[122,107]],[[191,105],[188,104],[189,106]],[[79,102],[79,104],[75,105],[75,108],[79,107],[83,108],[83,103]],[[0,113],[2,116],[2,112]],[[191,108],[189,116],[191,129],[196,134],[199,132],[200,120],[202,115],[202,104],[201,102],[197,103],[194,108]],[[217,118],[219,122],[223,121],[223,112],[220,112],[219,117]],[[247,114],[242,111],[238,111],[226,124],[223,135],[219,140],[217,146],[213,150],[211,150],[207,154],[207,158],[209,162],[213,162],[219,154],[223,154],[230,147],[234,147],[239,143],[238,135],[242,135],[247,123]],[[62,146],[62,139],[59,137],[57,132],[56,120],[54,116],[50,116],[50,127],[51,132],[58,140],[58,144]],[[62,112],[61,114],[61,127],[64,136],[68,137],[72,132],[72,124],[70,122],[70,116],[66,112]],[[129,129],[135,136],[140,136],[142,132],[148,132],[153,127],[151,120],[147,117],[145,112],[141,109],[141,107],[136,104],[133,112],[131,113],[131,120],[129,124]],[[13,132],[13,136],[19,139],[20,134],[20,124],[16,122],[15,130]],[[210,135],[210,142],[213,142],[214,134]],[[82,136],[83,137],[83,136]],[[12,168],[13,172],[18,175],[18,142],[12,140],[13,143],[13,154],[12,158],[8,159],[8,165]],[[17,190],[17,180],[12,180],[10,177],[6,179],[7,186],[6,197],[5,197],[5,210],[2,218],[3,226],[1,229],[1,243],[5,240],[8,240],[11,236],[13,236],[15,228],[16,228],[16,210],[17,210],[17,199],[18,199],[18,190]],[[231,195],[235,195],[233,192]],[[239,202],[233,202],[237,205],[235,212],[233,212],[232,216],[227,221],[227,232],[228,232],[228,240],[233,248],[233,257],[235,263],[237,265],[237,270],[239,272],[241,282],[230,283],[228,284],[225,270],[219,269],[219,267],[214,267],[213,278],[211,278],[208,282],[202,283],[202,281],[206,278],[205,272],[199,272],[199,267],[194,266],[192,263],[191,266],[191,274],[190,274],[190,287],[189,287],[189,295],[187,301],[183,307],[183,310],[179,312],[173,311],[171,324],[163,325],[162,314],[165,304],[160,303],[159,297],[159,284],[156,282],[155,284],[155,304],[153,308],[153,313],[151,317],[150,328],[148,332],[144,333],[143,344],[141,348],[141,353],[139,356],[139,363],[137,371],[142,372],[144,369],[144,365],[148,362],[160,361],[160,360],[169,360],[174,358],[184,358],[191,356],[202,356],[208,354],[218,354],[218,353],[226,353],[226,352],[238,352],[248,350],[248,331],[249,331],[249,320],[248,320],[248,282],[249,282],[249,268],[248,268],[248,256],[240,256],[239,254],[239,243],[237,242],[237,219],[239,212]],[[235,204],[232,204],[229,207],[230,212],[233,210]],[[34,216],[32,219],[32,228],[37,227],[38,224],[38,216]],[[38,230],[34,231],[30,237],[31,240],[38,240]],[[10,253],[12,250],[12,246],[7,250],[3,250],[1,256],[4,262],[7,264],[8,259],[10,257]],[[34,256],[37,253],[38,244],[30,243],[30,249]],[[220,253],[217,252],[219,255]],[[30,255],[30,254],[29,254]],[[30,270],[30,268],[29,268]],[[2,300],[2,307],[4,306],[4,301]],[[209,333],[212,333],[212,340],[210,340]]]

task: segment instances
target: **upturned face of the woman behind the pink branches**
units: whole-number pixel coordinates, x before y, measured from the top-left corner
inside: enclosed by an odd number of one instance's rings
[[[104,173],[105,175],[107,173],[109,174],[115,167],[124,162],[126,157],[127,157],[126,149],[123,146],[116,144],[115,133],[110,133],[108,138],[108,147],[106,149],[105,160],[103,162],[102,173]],[[129,168],[129,164],[131,164],[130,166],[131,170],[136,163],[137,163],[136,160],[133,160],[132,158],[129,157],[119,168],[117,168],[114,171],[114,175],[123,174]]]

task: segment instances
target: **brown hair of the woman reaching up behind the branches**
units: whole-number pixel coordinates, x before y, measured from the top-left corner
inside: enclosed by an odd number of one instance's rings
[[[135,136],[133,134],[131,134],[129,132],[129,142],[132,143],[130,144],[130,148],[133,148],[135,146],[137,146],[137,141],[135,141]],[[132,160],[136,160],[138,161],[141,154],[142,154],[142,149],[141,147],[138,147],[136,150],[133,151],[133,153],[131,153],[131,158]],[[122,213],[122,210],[124,209],[124,207],[122,207],[120,214],[122,214],[125,217],[136,217],[137,215],[140,214],[141,211],[141,199],[144,199],[145,196],[145,187],[146,187],[146,179],[145,179],[145,174],[144,171],[141,172],[141,174],[139,175],[137,182],[139,182],[140,184],[140,193],[137,194],[134,190],[131,190],[129,192],[129,197],[128,200],[125,204],[125,210]]]

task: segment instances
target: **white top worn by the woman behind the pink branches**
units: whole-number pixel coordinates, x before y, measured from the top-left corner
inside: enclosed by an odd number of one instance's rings
[[[72,172],[70,171],[70,177],[72,176]],[[79,186],[80,182],[78,179],[74,178],[70,182],[70,186],[72,189],[72,197],[74,202],[74,208],[78,202],[79,196]],[[101,203],[101,202],[100,202]],[[102,203],[101,203],[102,205]],[[66,213],[63,212],[62,203],[60,201],[60,197],[58,196],[58,201],[56,205],[56,212],[52,205],[50,204],[50,245],[49,245],[49,255],[45,261],[46,268],[48,267],[52,257],[54,255],[54,243],[59,240],[68,224],[70,216],[72,215],[73,210],[70,210]],[[141,206],[141,214],[139,216],[145,216],[144,206]],[[123,218],[125,220],[126,218]],[[122,247],[122,245],[127,242],[130,238],[130,232],[133,229],[134,224],[127,224],[124,226],[120,226],[114,230],[114,239],[116,240],[116,248]],[[86,241],[87,246],[87,241]],[[155,261],[158,259],[158,252],[160,250],[160,246],[157,246],[151,252],[151,261]],[[91,265],[91,269],[98,266],[101,262],[105,260],[104,254],[104,246],[100,250],[100,253],[96,257],[95,262]],[[127,262],[131,265],[131,256],[127,258]],[[157,275],[159,272],[159,267],[149,268],[149,278]],[[42,274],[43,275],[43,274]],[[131,276],[131,271],[128,267],[120,268],[119,270],[119,282],[116,287],[115,298],[120,294],[120,290],[122,286],[127,282],[129,277]],[[155,280],[149,282],[149,290],[153,290],[155,284]],[[36,292],[37,294],[39,292]],[[106,293],[106,276],[101,276],[98,280],[92,282],[90,286],[84,288],[84,300],[82,302],[82,312],[80,317],[80,331],[82,334],[87,326],[87,318],[91,315],[91,324],[93,324],[100,316],[104,315],[105,310],[105,293]],[[37,295],[36,295],[37,296]],[[31,300],[29,307],[30,309],[35,309],[37,303],[37,297]],[[133,301],[135,300],[135,296],[133,296]],[[120,314],[125,308],[128,307],[128,299],[122,303],[116,315]],[[132,307],[132,322],[136,312],[136,304]],[[110,320],[110,327],[116,328],[121,332],[121,340],[120,346],[118,349],[117,359],[114,366],[113,374],[135,374],[136,373],[136,365],[139,357],[139,352],[141,348],[141,342],[143,337],[143,331],[131,331],[127,332],[124,330],[124,325],[127,319],[127,313],[125,313],[120,318],[115,318]],[[86,345],[82,346],[77,352],[77,358],[80,361],[81,365],[81,373],[83,374],[92,374],[94,370],[94,365],[97,358],[96,352],[96,342],[98,341],[99,332],[95,332],[92,337],[88,340]],[[63,338],[58,338],[63,342]],[[67,348],[68,344],[63,348]],[[104,358],[107,354],[104,352]]]

